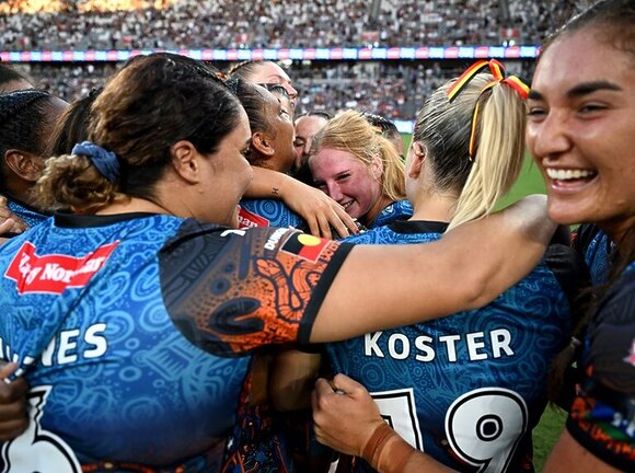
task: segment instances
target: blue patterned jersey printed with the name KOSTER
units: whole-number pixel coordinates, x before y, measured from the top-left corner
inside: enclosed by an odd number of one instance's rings
[[[347,241],[425,243],[446,228],[399,221]],[[335,372],[361,382],[404,439],[452,469],[533,471],[531,430],[546,405],[550,360],[568,339],[577,265],[574,251],[555,245],[478,310],[328,344]],[[370,469],[357,461],[356,470]]]

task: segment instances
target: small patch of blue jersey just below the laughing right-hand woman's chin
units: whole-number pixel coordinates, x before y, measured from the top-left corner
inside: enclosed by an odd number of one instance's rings
[[[607,282],[615,249],[609,235],[599,227],[585,223],[575,232],[573,246],[584,256],[587,266],[589,266],[593,286]]]

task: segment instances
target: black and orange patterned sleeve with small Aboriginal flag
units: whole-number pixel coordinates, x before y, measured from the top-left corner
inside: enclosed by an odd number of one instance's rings
[[[164,303],[180,331],[215,355],[304,344],[351,247],[292,229],[186,221],[160,253]]]

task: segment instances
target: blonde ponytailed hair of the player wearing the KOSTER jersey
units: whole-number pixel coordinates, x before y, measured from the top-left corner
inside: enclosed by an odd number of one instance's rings
[[[518,92],[503,83],[483,92],[493,80],[489,73],[476,74],[450,102],[447,90],[452,80],[430,95],[417,117],[413,139],[426,150],[435,185],[460,192],[448,230],[492,212],[522,169],[527,106]],[[476,103],[481,113],[471,157]]]

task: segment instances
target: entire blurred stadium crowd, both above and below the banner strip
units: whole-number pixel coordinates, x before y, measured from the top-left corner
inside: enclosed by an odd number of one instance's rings
[[[232,8],[221,0],[9,0],[0,2],[0,41],[5,50],[536,44],[572,9],[550,0],[254,0]],[[298,113],[357,108],[412,120],[422,97],[464,66],[312,62],[289,73],[302,92]],[[72,101],[102,86],[116,65],[21,68]]]

